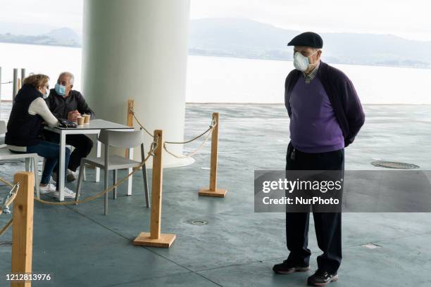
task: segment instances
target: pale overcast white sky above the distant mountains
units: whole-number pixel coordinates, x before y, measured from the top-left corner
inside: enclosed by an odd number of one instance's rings
[[[396,34],[431,41],[431,1],[427,0],[191,0],[191,3],[192,19],[249,18],[292,30]],[[1,23],[71,27],[80,33],[82,0],[0,0]]]

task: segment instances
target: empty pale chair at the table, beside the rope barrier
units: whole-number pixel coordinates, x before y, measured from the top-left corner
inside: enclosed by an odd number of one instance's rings
[[[144,133],[140,131],[118,131],[118,130],[101,130],[99,134],[99,141],[104,144],[105,151],[104,157],[102,158],[82,158],[80,165],[80,175],[78,177],[77,189],[75,200],[79,199],[82,173],[84,165],[95,165],[101,170],[104,170],[105,185],[104,188],[108,189],[109,170],[113,170],[113,184],[117,183],[117,170],[129,169],[131,167],[139,167],[141,162],[136,160],[130,160],[123,158],[118,155],[109,155],[109,147],[114,148],[135,148],[141,146],[141,157],[142,161],[145,158],[144,154]],[[148,194],[148,182],[146,181],[146,166],[142,166],[142,176],[144,177],[144,195],[146,207],[149,208],[149,194]],[[117,198],[117,190],[113,189],[113,198]],[[105,205],[104,214],[108,214],[108,193],[105,193]]]

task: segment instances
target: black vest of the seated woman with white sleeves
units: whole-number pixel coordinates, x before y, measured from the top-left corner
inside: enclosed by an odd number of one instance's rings
[[[35,146],[41,141],[42,122],[40,115],[30,115],[28,108],[32,101],[41,98],[35,87],[23,85],[15,96],[11,115],[8,121],[8,132],[4,139],[5,144],[12,146]]]

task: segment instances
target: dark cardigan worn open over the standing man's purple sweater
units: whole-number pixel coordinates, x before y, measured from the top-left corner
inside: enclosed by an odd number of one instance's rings
[[[301,74],[302,72],[299,70],[292,70],[286,78],[285,106],[289,117],[292,115],[289,103],[290,94],[292,94],[292,89]],[[359,129],[365,122],[365,114],[354,85],[342,71],[323,62],[320,62],[316,77],[322,82],[323,88],[330,99],[335,117],[337,117],[343,132],[344,146],[349,146],[349,144],[353,143],[356,134],[358,134]]]

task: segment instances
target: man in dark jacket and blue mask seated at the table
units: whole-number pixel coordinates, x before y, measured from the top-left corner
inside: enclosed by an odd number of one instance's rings
[[[55,89],[51,89],[49,96],[45,99],[46,104],[57,118],[68,119],[73,122],[77,121],[77,117],[86,114],[94,118],[94,112],[85,102],[85,98],[79,91],[73,90],[73,74],[70,72],[62,72],[58,76]],[[54,132],[44,131],[46,141],[58,143],[60,141],[59,134]],[[92,151],[93,142],[84,134],[68,134],[66,136],[66,144],[75,147],[73,153],[70,154],[68,164],[68,182],[76,179],[76,170],[80,166],[81,158],[87,157]],[[56,181],[56,173],[53,174]]]

